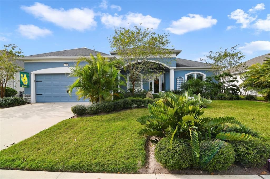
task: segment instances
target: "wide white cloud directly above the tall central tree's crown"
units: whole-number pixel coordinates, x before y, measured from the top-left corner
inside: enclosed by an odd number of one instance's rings
[[[141,13],[132,12],[129,12],[126,15],[114,14],[113,16],[109,13],[103,13],[100,20],[107,28],[130,27],[132,25],[137,25],[144,28],[156,29],[161,22],[160,19],[154,18],[150,15],[144,16]]]

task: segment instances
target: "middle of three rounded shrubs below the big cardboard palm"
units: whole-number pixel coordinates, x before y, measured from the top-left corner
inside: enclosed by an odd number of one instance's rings
[[[199,165],[203,170],[227,170],[234,163],[235,152],[231,144],[221,141],[203,141],[200,143]]]

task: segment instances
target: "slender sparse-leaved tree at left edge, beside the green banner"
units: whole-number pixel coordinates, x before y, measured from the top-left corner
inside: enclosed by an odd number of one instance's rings
[[[15,80],[15,74],[23,70],[16,62],[22,55],[22,50],[16,50],[15,44],[4,45],[4,49],[0,51],[0,98],[4,98],[6,85],[11,80]]]

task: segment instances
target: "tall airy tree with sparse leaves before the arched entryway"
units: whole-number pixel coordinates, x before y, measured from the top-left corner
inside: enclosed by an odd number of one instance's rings
[[[124,69],[130,73],[132,94],[134,95],[135,83],[138,81],[139,73],[143,73],[145,80],[164,71],[164,66],[149,60],[154,58],[170,58],[170,52],[166,47],[170,43],[168,35],[156,34],[149,28],[119,28],[109,38],[110,47],[117,52],[125,66]],[[167,63],[168,59],[160,61]]]

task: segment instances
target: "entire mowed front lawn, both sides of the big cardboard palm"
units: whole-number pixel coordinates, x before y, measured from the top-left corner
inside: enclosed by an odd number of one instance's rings
[[[94,173],[136,173],[145,162],[146,138],[136,122],[146,108],[64,120],[0,151],[0,168]],[[203,116],[234,116],[270,139],[270,104],[213,101]],[[76,139],[76,140],[75,140]]]

